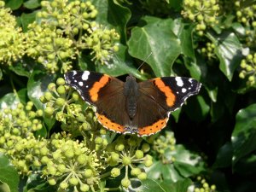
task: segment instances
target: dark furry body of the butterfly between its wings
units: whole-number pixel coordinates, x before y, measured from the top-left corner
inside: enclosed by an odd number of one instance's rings
[[[125,81],[125,107],[130,119],[137,113],[137,97],[139,96],[138,84],[136,79],[129,75]]]

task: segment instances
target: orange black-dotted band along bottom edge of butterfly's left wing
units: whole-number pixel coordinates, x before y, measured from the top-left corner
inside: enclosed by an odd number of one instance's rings
[[[108,119],[105,115],[96,113],[96,117],[98,121],[108,130],[110,131],[116,131],[116,132],[125,132],[124,126],[119,125],[117,123],[112,122],[110,119]]]

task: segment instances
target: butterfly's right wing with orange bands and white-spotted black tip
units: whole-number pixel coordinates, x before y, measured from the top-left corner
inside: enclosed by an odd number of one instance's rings
[[[180,108],[200,88],[201,83],[195,79],[181,77],[156,78],[139,83],[140,96],[133,122],[137,125],[137,134],[148,136],[163,129],[169,113]]]

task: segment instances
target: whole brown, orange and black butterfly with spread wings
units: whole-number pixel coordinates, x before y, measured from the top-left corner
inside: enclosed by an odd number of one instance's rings
[[[149,136],[162,130],[169,114],[197,94],[201,83],[195,79],[164,77],[137,83],[95,72],[65,74],[67,84],[79,91],[85,102],[96,107],[98,121],[108,130]]]

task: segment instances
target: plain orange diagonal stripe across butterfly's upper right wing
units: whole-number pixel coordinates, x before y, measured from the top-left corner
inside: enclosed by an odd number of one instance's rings
[[[166,84],[160,79],[156,78],[154,79],[154,84],[166,95],[166,103],[168,107],[172,107],[175,102],[175,95],[172,93],[172,90],[169,86],[166,86]]]

